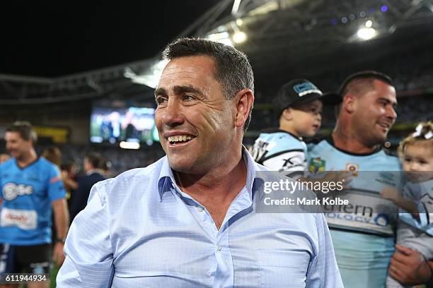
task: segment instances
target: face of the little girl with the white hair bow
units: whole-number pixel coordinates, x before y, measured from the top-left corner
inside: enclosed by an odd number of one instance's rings
[[[410,178],[426,181],[433,174],[433,146],[431,140],[410,143],[405,147],[403,169],[405,172],[423,172],[412,174]],[[429,173],[427,173],[429,172]],[[411,179],[415,180],[415,179]]]

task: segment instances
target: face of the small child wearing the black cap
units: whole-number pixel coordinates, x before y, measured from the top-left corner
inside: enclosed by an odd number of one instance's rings
[[[311,137],[316,135],[322,124],[322,107],[323,104],[320,100],[314,100],[290,108],[294,127],[299,136]]]

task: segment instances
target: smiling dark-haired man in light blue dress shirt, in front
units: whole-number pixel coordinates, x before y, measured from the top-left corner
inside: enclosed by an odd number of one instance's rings
[[[208,40],[168,46],[155,91],[166,152],[93,186],[58,287],[342,287],[321,213],[259,213],[242,147],[253,106],[246,56]]]

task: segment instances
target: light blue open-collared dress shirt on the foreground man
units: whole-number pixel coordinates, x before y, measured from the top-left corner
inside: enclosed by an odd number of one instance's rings
[[[246,186],[219,230],[166,157],[93,186],[57,287],[342,287],[323,215],[255,212],[255,172],[266,168],[243,158]]]

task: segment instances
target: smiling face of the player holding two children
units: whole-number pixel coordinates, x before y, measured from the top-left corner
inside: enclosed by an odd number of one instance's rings
[[[358,98],[354,121],[370,145],[386,140],[396,121],[396,104],[396,89],[381,80],[374,80],[374,90]]]

